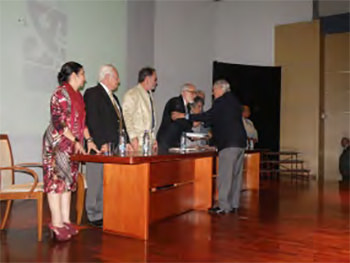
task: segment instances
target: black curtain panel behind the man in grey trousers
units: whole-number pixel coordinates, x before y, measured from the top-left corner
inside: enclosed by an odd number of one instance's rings
[[[251,109],[258,130],[256,148],[279,151],[281,68],[213,63],[213,83],[225,79],[242,104]]]

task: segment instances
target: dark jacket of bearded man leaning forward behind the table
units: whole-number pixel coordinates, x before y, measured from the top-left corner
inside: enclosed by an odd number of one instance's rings
[[[182,132],[192,130],[192,122],[189,120],[178,119],[173,121],[171,119],[171,112],[173,111],[186,113],[182,96],[171,98],[165,105],[162,123],[157,133],[159,149],[162,151],[167,151],[171,147],[178,147]]]

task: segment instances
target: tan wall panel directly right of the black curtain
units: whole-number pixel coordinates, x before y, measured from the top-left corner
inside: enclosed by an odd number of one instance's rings
[[[302,153],[305,166],[318,176],[319,154],[319,21],[275,28],[275,65],[282,66],[281,150]]]

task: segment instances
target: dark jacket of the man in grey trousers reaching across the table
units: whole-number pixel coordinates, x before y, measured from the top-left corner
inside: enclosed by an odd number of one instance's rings
[[[191,114],[190,120],[211,124],[214,143],[219,151],[228,147],[246,147],[247,134],[243,126],[241,104],[231,92],[214,100],[210,110]]]

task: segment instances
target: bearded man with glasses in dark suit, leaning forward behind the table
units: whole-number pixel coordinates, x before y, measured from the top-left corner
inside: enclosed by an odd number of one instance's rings
[[[190,113],[190,103],[196,96],[196,87],[193,84],[186,83],[182,86],[181,95],[171,98],[165,105],[162,123],[157,133],[159,151],[167,152],[171,147],[180,145],[182,132],[192,130],[192,121],[185,119],[172,120],[173,111],[181,113]]]

